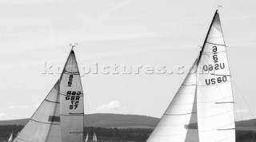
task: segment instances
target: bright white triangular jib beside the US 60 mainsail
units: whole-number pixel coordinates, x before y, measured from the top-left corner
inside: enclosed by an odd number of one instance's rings
[[[197,65],[194,62],[194,67]],[[195,68],[196,69],[196,68]],[[154,132],[147,142],[189,142],[198,141],[195,91],[196,73],[192,68],[178,93],[170,102]],[[193,73],[194,72],[194,73]]]

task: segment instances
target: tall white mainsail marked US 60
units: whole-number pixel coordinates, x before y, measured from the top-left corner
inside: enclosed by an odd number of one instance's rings
[[[198,132],[200,142],[234,142],[234,99],[218,11],[198,64]]]

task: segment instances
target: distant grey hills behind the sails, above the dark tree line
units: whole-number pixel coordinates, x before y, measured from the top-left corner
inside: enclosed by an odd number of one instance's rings
[[[29,119],[0,120],[0,125],[21,124],[24,125]],[[125,115],[97,113],[85,115],[86,127],[102,128],[154,128],[159,119],[151,116]],[[250,130],[256,132],[256,119],[236,122],[238,130]]]

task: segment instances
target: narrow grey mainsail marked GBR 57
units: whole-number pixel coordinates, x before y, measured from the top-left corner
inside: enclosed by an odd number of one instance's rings
[[[71,50],[60,79],[60,115],[62,142],[83,140],[83,93],[74,51]]]

